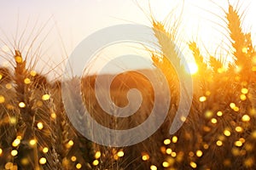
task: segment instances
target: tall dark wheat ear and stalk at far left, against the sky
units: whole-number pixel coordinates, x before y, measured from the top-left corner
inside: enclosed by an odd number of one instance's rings
[[[23,140],[37,139],[36,131],[35,131],[35,121],[36,121],[36,113],[38,112],[38,107],[32,109],[33,105],[35,105],[35,96],[37,95],[36,91],[30,87],[29,83],[26,83],[25,80],[29,76],[29,72],[26,69],[26,59],[24,60],[21,56],[19,50],[15,50],[15,93],[16,93],[16,105],[18,106],[18,111],[20,114],[20,122],[18,122],[19,126],[24,123],[26,126],[24,129],[18,129],[18,132],[22,134],[21,138]],[[34,144],[34,146],[30,149],[27,148],[26,144],[21,143],[19,146],[20,154],[25,154],[30,156],[30,152],[28,150],[32,150],[31,166],[35,169],[39,168],[38,164],[38,144]],[[16,159],[21,159],[22,157],[16,156]],[[15,160],[16,160],[15,159]],[[22,167],[20,161],[15,162],[18,164],[18,167]]]

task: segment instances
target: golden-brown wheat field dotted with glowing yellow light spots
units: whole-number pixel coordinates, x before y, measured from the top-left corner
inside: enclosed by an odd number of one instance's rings
[[[180,89],[168,58],[180,62],[177,53],[170,54],[178,26],[170,28],[168,20],[151,18],[162,52],[152,54],[152,60],[169,83],[171,107],[165,122],[152,136],[122,148],[84,138],[67,117],[61,80],[52,82],[34,71],[16,48],[10,59],[14,65],[0,68],[0,169],[256,169],[256,52],[251,33],[241,29],[240,12],[231,4],[224,11],[234,63],[225,67],[224,59],[215,56],[206,61],[197,42],[187,42],[198,71],[192,75],[194,94],[189,116],[172,135],[169,128]],[[101,77],[108,80],[109,75]],[[147,119],[154,105],[154,92],[146,77],[129,71],[116,77],[111,85],[111,97],[119,106],[127,105],[124,96],[130,88],[141,91],[143,104],[129,118],[108,116],[102,111],[96,101],[95,80],[96,75],[83,77],[82,93],[84,104],[97,122],[109,128],[128,129]],[[79,93],[76,77],[72,81],[70,95]],[[73,103],[79,110],[80,105]],[[90,124],[84,127],[90,128]]]

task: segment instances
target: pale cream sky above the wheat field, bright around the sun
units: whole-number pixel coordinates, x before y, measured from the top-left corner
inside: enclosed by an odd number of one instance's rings
[[[182,14],[180,35],[185,42],[195,40],[201,45],[203,53],[216,52],[216,48],[224,41],[224,16],[222,8],[227,9],[228,1],[216,0],[9,0],[2,1],[0,8],[0,64],[9,65],[2,52],[13,50],[15,42],[20,40],[20,48],[25,52],[34,37],[30,58],[38,58],[38,70],[50,70],[65,63],[74,48],[95,31],[119,24],[142,24],[150,26],[148,20],[150,4],[151,12],[156,20],[164,20],[174,9],[174,13]],[[246,12],[243,29],[251,31],[256,39],[256,1],[230,0],[238,2],[241,11]],[[140,8],[139,8],[140,7]],[[43,29],[41,29],[43,28]],[[23,31],[25,33],[23,34]],[[21,38],[20,38],[21,37]],[[255,44],[255,43],[254,43]],[[38,48],[38,46],[40,48]],[[204,50],[207,48],[207,50]],[[2,50],[2,51],[1,51]],[[189,56],[187,49],[184,54]],[[7,58],[7,59],[6,59]],[[62,68],[62,67],[61,67]],[[60,68],[60,69],[61,69]],[[53,71],[60,75],[59,71]]]

